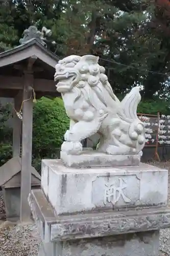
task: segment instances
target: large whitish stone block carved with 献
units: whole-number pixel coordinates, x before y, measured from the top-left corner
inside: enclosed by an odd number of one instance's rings
[[[69,168],[42,160],[41,188],[55,214],[167,204],[168,172],[148,164]]]

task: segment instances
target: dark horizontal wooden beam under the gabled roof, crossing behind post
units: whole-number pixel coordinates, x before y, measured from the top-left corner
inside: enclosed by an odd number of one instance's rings
[[[0,90],[22,90],[22,77],[0,76]],[[56,82],[48,79],[34,79],[34,90],[38,92],[56,92]]]

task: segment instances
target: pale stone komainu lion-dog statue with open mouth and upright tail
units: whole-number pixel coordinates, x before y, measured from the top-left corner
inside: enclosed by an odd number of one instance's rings
[[[61,150],[80,154],[81,141],[98,133],[96,150],[111,155],[138,154],[145,143],[144,126],[136,114],[139,87],[120,102],[98,60],[93,55],[71,55],[56,65],[57,91],[70,118]]]

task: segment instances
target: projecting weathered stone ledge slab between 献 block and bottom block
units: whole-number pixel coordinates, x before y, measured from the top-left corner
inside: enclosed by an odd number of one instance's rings
[[[137,232],[148,232],[170,226],[170,208],[153,207],[145,209],[93,212],[55,217],[42,190],[34,190],[30,196],[34,220],[44,227],[45,243],[75,239],[100,238]],[[45,209],[46,206],[46,209]]]

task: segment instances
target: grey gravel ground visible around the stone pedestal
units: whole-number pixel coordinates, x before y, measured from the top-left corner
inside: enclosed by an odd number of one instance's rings
[[[170,162],[150,162],[150,164],[169,169],[169,184]],[[170,204],[170,189],[168,203]],[[0,216],[4,212],[5,207],[0,191]],[[7,221],[0,221],[0,256],[37,256],[41,241],[35,224],[27,226],[10,225],[11,223]],[[159,256],[170,256],[170,229],[160,231]]]

